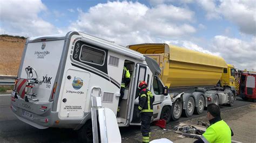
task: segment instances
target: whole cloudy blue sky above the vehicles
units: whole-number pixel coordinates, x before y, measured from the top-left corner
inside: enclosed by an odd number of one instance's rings
[[[256,70],[255,0],[0,0],[0,34],[82,31],[119,45],[166,42]]]

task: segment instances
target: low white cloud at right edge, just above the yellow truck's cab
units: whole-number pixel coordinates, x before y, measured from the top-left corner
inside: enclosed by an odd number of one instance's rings
[[[251,42],[217,35],[213,39],[213,50],[220,53],[227,63],[239,69],[256,69],[256,38]]]

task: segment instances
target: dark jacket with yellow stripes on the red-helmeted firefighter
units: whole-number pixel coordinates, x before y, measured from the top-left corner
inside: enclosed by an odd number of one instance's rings
[[[139,92],[139,111],[148,116],[153,116],[154,97],[150,90],[143,88]]]

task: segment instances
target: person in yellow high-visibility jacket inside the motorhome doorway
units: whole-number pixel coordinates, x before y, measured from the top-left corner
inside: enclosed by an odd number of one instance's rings
[[[123,70],[123,76],[122,76],[122,83],[121,83],[121,90],[120,90],[120,97],[119,97],[119,102],[118,102],[118,108],[117,108],[117,112],[120,111],[120,103],[122,101],[122,98],[124,97],[124,90],[125,87],[127,87],[130,83],[130,72],[129,70],[126,68],[127,65],[124,66],[124,70]]]

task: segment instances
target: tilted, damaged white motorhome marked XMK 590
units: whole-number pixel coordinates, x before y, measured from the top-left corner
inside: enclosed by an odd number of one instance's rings
[[[26,41],[11,95],[11,109],[27,124],[41,129],[80,129],[82,138],[90,141],[91,96],[102,95],[102,105],[117,115],[124,64],[131,73],[131,81],[120,104],[118,125],[140,125],[140,81],[146,81],[154,94],[152,120],[165,116],[162,109],[171,106],[172,101],[164,95],[167,87],[158,78],[160,68],[156,61],[76,31]]]

